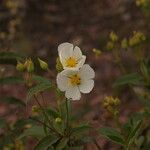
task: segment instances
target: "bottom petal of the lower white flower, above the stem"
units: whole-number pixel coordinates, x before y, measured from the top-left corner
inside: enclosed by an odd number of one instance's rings
[[[79,88],[77,86],[70,86],[65,93],[66,98],[72,99],[72,100],[80,100],[81,93],[79,91]]]

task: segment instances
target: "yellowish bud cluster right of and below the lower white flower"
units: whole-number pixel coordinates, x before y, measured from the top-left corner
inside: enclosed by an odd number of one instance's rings
[[[120,105],[120,100],[118,98],[113,98],[112,96],[106,96],[104,98],[103,107],[113,115],[118,115],[119,105]]]

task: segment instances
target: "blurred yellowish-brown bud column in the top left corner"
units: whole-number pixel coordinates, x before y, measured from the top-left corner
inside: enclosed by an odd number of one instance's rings
[[[25,10],[25,3],[24,0],[5,0],[4,1],[4,7],[6,14],[8,14],[8,18],[10,18],[7,21],[4,21],[6,23],[6,27],[2,31],[0,31],[0,40],[3,41],[3,44],[11,44],[10,41],[15,40],[15,38],[18,35],[18,31],[20,30],[20,26],[22,23],[22,18],[24,16]],[[1,42],[2,43],[2,42]]]

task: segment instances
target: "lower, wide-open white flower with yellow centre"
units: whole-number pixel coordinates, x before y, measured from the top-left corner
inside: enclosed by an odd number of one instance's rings
[[[94,70],[87,64],[79,70],[63,70],[57,75],[57,86],[65,97],[79,100],[81,93],[89,93],[94,87]]]

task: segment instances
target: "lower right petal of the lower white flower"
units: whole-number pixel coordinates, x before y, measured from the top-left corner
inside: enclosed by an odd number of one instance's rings
[[[79,85],[79,89],[82,93],[91,92],[93,87],[94,87],[93,80],[83,80],[83,81],[81,81],[81,84]]]

